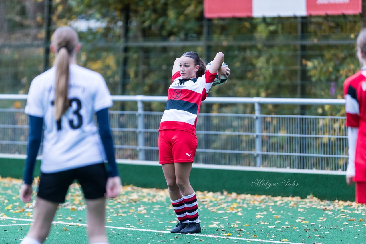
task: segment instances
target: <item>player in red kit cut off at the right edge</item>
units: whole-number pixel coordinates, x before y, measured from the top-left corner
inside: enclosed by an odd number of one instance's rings
[[[366,203],[366,29],[357,38],[361,70],[344,82],[348,165],[346,182],[356,182],[356,202]]]

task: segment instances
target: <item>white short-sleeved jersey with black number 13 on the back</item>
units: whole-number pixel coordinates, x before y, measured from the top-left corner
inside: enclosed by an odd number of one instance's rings
[[[104,148],[93,114],[113,105],[104,78],[77,64],[70,65],[70,108],[56,121],[54,115],[56,67],[33,79],[25,113],[44,118],[41,171],[60,172],[100,163]]]

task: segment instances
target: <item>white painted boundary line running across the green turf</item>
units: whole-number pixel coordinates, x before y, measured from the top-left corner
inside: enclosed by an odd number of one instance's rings
[[[10,218],[10,217],[0,217],[0,220],[2,220],[2,219],[12,219],[12,220],[20,220],[20,221],[34,221],[33,219],[20,219],[20,218]],[[87,224],[78,224],[78,223],[60,222],[60,221],[53,221],[52,224],[88,226]],[[14,225],[24,225],[24,223],[23,224],[14,224]],[[0,226],[3,226],[3,225],[0,225]],[[6,226],[10,226],[10,225],[6,225]],[[170,234],[170,231],[165,231],[165,230],[146,230],[146,229],[117,227],[117,226],[109,226],[109,225],[106,225],[105,228],[122,229],[122,230],[138,230],[138,231],[169,233]],[[248,238],[230,237],[230,236],[214,236],[214,235],[205,235],[205,234],[187,234],[187,235],[191,235],[191,236],[202,236],[202,237],[211,237],[211,238],[221,238],[221,239],[244,240],[244,241],[261,241],[261,242],[268,242],[268,243],[304,244],[304,243],[289,242],[289,241],[267,241],[267,240],[260,240],[260,239],[248,239]]]

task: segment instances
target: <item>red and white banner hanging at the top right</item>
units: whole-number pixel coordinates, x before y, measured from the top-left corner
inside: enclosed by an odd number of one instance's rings
[[[286,17],[361,13],[362,0],[204,0],[206,18]]]

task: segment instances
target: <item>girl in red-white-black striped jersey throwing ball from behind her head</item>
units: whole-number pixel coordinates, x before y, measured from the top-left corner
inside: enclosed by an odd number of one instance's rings
[[[217,53],[206,64],[195,52],[187,52],[173,64],[173,83],[159,127],[159,164],[162,165],[178,225],[172,233],[199,233],[197,198],[189,182],[197,149],[196,123],[201,101],[205,100],[216,74],[228,77],[224,54]]]

